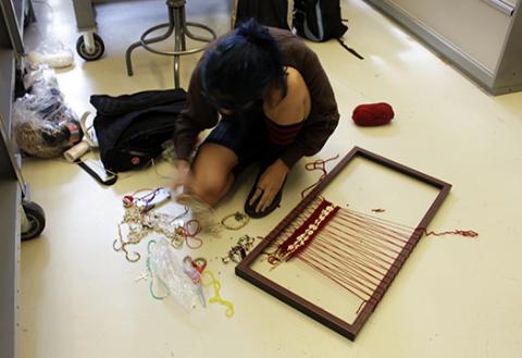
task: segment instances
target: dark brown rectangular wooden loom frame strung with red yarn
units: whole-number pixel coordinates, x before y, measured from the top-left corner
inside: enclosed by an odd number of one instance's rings
[[[388,169],[391,169],[396,172],[408,175],[412,178],[415,178],[420,182],[428,184],[435,188],[439,189],[439,193],[435,200],[432,202],[430,209],[426,211],[421,222],[417,227],[425,229],[432,221],[436,211],[443,205],[444,199],[449,194],[451,189],[451,184],[439,181],[435,177],[421,173],[411,168],[405,166],[397,162],[394,162],[389,159],[375,155],[365,149],[353,147],[346,157],[310,192],[304,199],[297,205],[297,207],[291,210],[283,221],[275,226],[274,230],[249,254],[247,257],[236,267],[236,275],[245,279],[251,284],[258,286],[259,288],[265,291],[272,296],[278,298],[279,300],[288,304],[295,309],[301,311],[302,313],[309,316],[310,318],[316,320],[318,322],[326,325],[327,328],[336,331],[337,333],[346,336],[347,338],[353,341],[358,333],[361,331],[363,324],[368,321],[371,313],[375,310],[380,300],[388,289],[393,280],[397,276],[397,273],[402,268],[406,259],[413,250],[415,245],[419,243],[420,238],[424,234],[422,230],[413,231],[412,235],[408,239],[408,243],[405,245],[400,254],[395,259],[395,262],[389,268],[386,275],[383,277],[377,288],[373,293],[372,297],[365,303],[361,312],[357,316],[355,321],[350,324],[338,317],[327,312],[323,308],[310,303],[309,300],[302,298],[301,296],[293,293],[291,291],[281,286],[274,281],[270,280],[265,275],[260,274],[250,268],[250,264],[256,261],[256,259],[279,236],[279,234],[307,208],[307,206],[316,198],[318,195],[327,186],[331,180],[337,175],[351,160],[355,158],[364,158],[374,163],[381,164]]]

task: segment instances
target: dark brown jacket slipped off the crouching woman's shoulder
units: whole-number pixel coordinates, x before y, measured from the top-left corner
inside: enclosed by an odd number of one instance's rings
[[[283,65],[299,71],[310,91],[312,107],[294,143],[281,159],[288,168],[303,156],[315,155],[326,143],[339,121],[337,103],[330,81],[318,55],[304,42],[288,30],[269,28],[283,54]],[[219,120],[215,108],[206,101],[199,79],[201,61],[190,78],[187,106],[177,120],[174,137],[176,155],[187,159],[203,129],[212,128]]]

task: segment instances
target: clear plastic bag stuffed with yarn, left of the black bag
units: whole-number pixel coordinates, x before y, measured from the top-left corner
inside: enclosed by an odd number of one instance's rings
[[[52,70],[40,66],[29,71],[24,83],[30,92],[18,98],[13,108],[18,147],[30,156],[52,158],[79,143],[82,127],[65,103]]]

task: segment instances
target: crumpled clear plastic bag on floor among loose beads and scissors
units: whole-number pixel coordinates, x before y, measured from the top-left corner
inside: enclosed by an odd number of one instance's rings
[[[150,293],[154,298],[171,296],[186,310],[197,307],[198,301],[204,306],[199,272],[179,259],[166,239],[149,242],[147,267],[153,279]]]

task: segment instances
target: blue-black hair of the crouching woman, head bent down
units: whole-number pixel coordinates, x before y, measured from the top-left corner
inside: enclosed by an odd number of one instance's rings
[[[277,44],[254,18],[220,39],[201,66],[203,95],[215,108],[233,111],[261,100],[271,84],[285,95],[285,76]]]

